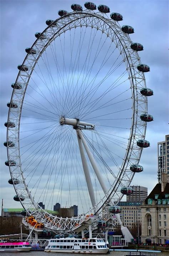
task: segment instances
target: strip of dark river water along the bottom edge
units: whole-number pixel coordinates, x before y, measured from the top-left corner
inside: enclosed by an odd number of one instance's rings
[[[125,256],[128,252],[110,252],[107,256]],[[57,253],[57,252],[44,252],[44,251],[32,251],[32,252],[0,252],[0,256],[77,256],[77,255],[89,255],[83,253]],[[105,254],[92,254],[93,256],[105,256]],[[159,256],[169,256],[168,252],[158,253]]]

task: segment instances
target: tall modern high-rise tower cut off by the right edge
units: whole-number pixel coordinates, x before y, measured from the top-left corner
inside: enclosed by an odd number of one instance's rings
[[[162,173],[167,173],[169,182],[169,135],[165,135],[165,141],[158,142],[158,183],[162,182]]]

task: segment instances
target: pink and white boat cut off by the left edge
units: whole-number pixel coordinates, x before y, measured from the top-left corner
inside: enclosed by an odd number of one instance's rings
[[[29,252],[31,250],[28,242],[3,242],[0,243],[0,252]]]

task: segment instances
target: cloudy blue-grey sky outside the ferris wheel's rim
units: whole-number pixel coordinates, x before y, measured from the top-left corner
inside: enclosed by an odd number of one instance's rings
[[[77,1],[84,6],[84,1]],[[150,72],[145,74],[148,88],[152,88],[154,96],[149,97],[148,113],[153,115],[154,122],[147,126],[146,139],[150,141],[150,148],[144,149],[140,164],[144,172],[135,175],[132,184],[148,187],[148,191],[157,183],[157,142],[163,141],[168,134],[168,1],[94,1],[96,5],[107,4],[111,12],[123,15],[120,25],[131,25],[135,33],[130,35],[133,42],[142,43],[144,51],[140,52],[142,63],[150,66]],[[36,32],[46,28],[47,19],[58,18],[57,11],[65,9],[71,12],[72,1],[65,0],[1,0],[1,190],[0,198],[4,199],[4,208],[20,207],[19,202],[13,200],[14,188],[8,184],[9,168],[4,162],[7,160],[6,127],[10,101],[11,83],[16,79],[17,65],[25,58],[25,48],[30,47]]]

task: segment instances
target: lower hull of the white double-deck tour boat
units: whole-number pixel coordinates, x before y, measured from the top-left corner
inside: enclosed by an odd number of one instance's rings
[[[45,249],[45,252],[64,252],[64,253],[66,253],[66,252],[68,252],[68,253],[88,253],[88,254],[106,254],[107,252],[109,251],[109,249],[108,248],[106,248],[106,249],[92,249],[92,250],[68,250],[68,249],[53,249],[53,248],[51,248],[51,249]]]

